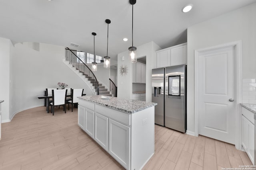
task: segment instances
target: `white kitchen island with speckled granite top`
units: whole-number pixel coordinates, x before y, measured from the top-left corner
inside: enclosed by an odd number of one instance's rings
[[[78,97],[78,125],[127,170],[154,154],[156,103],[110,96]]]

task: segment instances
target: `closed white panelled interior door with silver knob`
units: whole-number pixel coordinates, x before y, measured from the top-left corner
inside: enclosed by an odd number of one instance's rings
[[[198,133],[235,144],[235,47],[198,54]]]

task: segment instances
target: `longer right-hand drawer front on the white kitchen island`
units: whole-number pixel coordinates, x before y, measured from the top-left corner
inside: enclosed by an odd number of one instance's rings
[[[100,106],[98,104],[95,105],[95,112],[100,113],[101,115],[104,115],[108,118],[119,121],[120,123],[124,123],[129,126],[131,125],[131,118],[130,114],[128,113],[123,113],[121,111],[109,109],[108,107]]]

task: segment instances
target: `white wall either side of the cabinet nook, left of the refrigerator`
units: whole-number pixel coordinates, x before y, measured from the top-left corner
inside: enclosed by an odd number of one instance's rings
[[[161,48],[154,43],[153,41],[146,43],[144,45],[140,45],[137,47],[137,57],[146,56],[146,102],[151,102],[151,74],[152,74],[152,65],[155,65],[155,56],[156,51]],[[124,56],[124,61],[121,61],[121,57]],[[122,65],[127,66],[127,74],[125,76],[121,76],[118,74],[117,86],[118,93],[117,96],[120,98],[132,99],[132,63],[129,61],[128,50],[118,54],[118,69]]]

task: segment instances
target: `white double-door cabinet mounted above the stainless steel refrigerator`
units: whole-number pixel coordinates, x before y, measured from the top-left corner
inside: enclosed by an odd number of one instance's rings
[[[187,43],[156,51],[156,68],[186,64]]]

